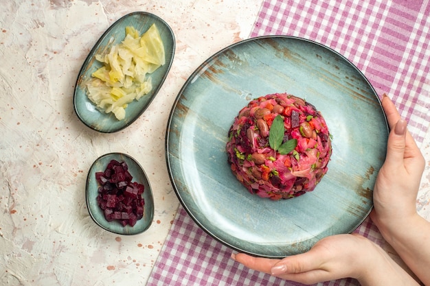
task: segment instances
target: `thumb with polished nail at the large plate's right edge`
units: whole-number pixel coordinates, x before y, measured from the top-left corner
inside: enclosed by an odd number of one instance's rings
[[[387,142],[385,164],[388,166],[403,165],[406,147],[407,121],[399,119],[391,130]],[[384,165],[385,165],[384,164]]]

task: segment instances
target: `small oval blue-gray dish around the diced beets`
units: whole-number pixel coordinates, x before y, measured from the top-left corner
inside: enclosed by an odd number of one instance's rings
[[[122,224],[116,221],[108,222],[104,218],[102,209],[97,204],[99,184],[97,180],[95,180],[95,173],[98,171],[104,171],[111,160],[125,162],[128,166],[128,172],[133,176],[132,182],[138,182],[139,184],[143,184],[145,187],[144,193],[142,194],[142,198],[145,200],[144,217],[139,219],[134,226],[122,226]],[[111,233],[117,233],[118,235],[137,235],[139,233],[143,233],[152,224],[152,219],[154,217],[154,198],[152,197],[152,189],[148,177],[146,176],[142,166],[127,154],[104,154],[94,161],[87,176],[86,199],[89,215],[95,224],[98,224],[98,226],[105,230],[109,230]]]

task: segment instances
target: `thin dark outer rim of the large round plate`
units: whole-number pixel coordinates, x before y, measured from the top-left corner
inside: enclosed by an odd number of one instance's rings
[[[321,47],[323,49],[327,49],[328,51],[330,51],[332,53],[335,53],[336,56],[339,56],[340,58],[342,58],[343,60],[345,60],[350,65],[350,67],[354,68],[354,70],[357,71],[361,75],[361,77],[363,78],[363,80],[366,82],[366,84],[371,89],[372,94],[376,98],[376,101],[378,102],[378,105],[381,108],[383,118],[385,119],[384,123],[385,123],[385,126],[387,128],[387,132],[389,132],[390,128],[389,128],[389,125],[388,125],[387,116],[385,115],[385,111],[382,108],[381,99],[378,97],[378,94],[376,93],[376,90],[375,90],[374,86],[372,86],[372,84],[367,79],[367,77],[364,75],[364,73],[353,62],[351,62],[350,60],[348,60],[348,58],[346,58],[346,56],[343,56],[341,53],[339,53],[335,49],[332,49],[331,47],[328,47],[327,45],[318,43],[315,40],[310,40],[308,38],[303,38],[303,37],[299,37],[299,36],[288,36],[288,35],[279,35],[279,34],[251,37],[251,38],[247,38],[245,40],[240,40],[240,41],[238,41],[236,43],[233,43],[231,45],[227,45],[227,47],[224,47],[223,49],[220,49],[220,50],[216,51],[216,53],[212,54],[212,56],[208,57],[201,64],[199,64],[199,66],[196,67],[196,69],[194,69],[194,71],[189,75],[188,79],[184,82],[183,86],[179,90],[179,93],[177,94],[177,97],[174,100],[174,104],[172,105],[172,108],[170,110],[170,114],[169,114],[168,122],[167,122],[167,128],[166,128],[166,136],[165,136],[166,164],[167,164],[167,168],[168,168],[168,175],[169,175],[169,178],[170,178],[170,182],[172,183],[172,187],[174,189],[174,192],[176,193],[177,198],[179,199],[179,202],[181,203],[181,206],[183,207],[183,209],[185,210],[185,212],[188,213],[188,215],[192,218],[192,221],[195,224],[197,224],[197,226],[199,226],[199,228],[201,228],[205,233],[207,233],[207,235],[210,235],[210,237],[212,237],[216,241],[220,242],[224,246],[227,246],[227,247],[231,248],[234,251],[242,252],[242,253],[247,253],[247,254],[250,254],[251,256],[280,259],[280,258],[286,257],[287,255],[281,255],[281,254],[280,255],[261,254],[261,253],[256,253],[256,252],[252,252],[252,251],[249,251],[249,250],[240,249],[240,248],[238,248],[236,246],[233,246],[231,243],[228,243],[227,241],[221,239],[220,237],[218,237],[217,235],[215,235],[210,229],[208,229],[207,227],[205,227],[199,221],[199,219],[197,219],[197,217],[192,213],[192,211],[187,206],[187,204],[185,204],[185,201],[182,198],[181,193],[179,192],[177,184],[176,184],[176,182],[174,180],[174,176],[172,174],[172,166],[171,166],[171,162],[170,162],[170,153],[169,153],[170,129],[171,129],[171,126],[172,126],[172,120],[174,119],[173,115],[174,115],[174,112],[177,109],[177,105],[179,104],[179,102],[181,100],[181,96],[183,94],[183,91],[185,90],[185,88],[188,87],[188,85],[190,84],[190,82],[192,82],[193,80],[195,80],[196,76],[199,75],[199,73],[201,73],[201,70],[204,69],[209,62],[211,62],[212,60],[214,60],[214,58],[220,56],[225,51],[227,51],[229,49],[232,49],[232,48],[234,48],[234,47],[236,47],[238,45],[243,45],[243,44],[246,44],[246,43],[249,43],[249,42],[255,42],[255,41],[269,39],[269,38],[287,38],[287,39],[304,41],[304,42],[307,42],[307,43],[310,43],[310,44],[313,44],[313,45],[317,45],[317,46],[319,46],[319,47]],[[367,217],[370,215],[370,212],[372,211],[373,208],[374,208],[373,202],[371,202],[369,211],[367,211],[367,213],[365,215],[363,215],[363,217],[359,220],[359,222],[357,222],[357,225],[355,225],[354,228],[352,228],[352,230],[350,230],[349,233],[354,232],[354,230],[356,230],[365,221],[365,219],[367,219]]]

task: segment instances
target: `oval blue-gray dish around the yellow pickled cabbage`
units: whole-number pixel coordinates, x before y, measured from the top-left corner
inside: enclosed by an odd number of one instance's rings
[[[152,78],[152,90],[138,101],[135,100],[128,104],[126,108],[126,117],[122,120],[117,120],[113,113],[106,114],[105,112],[100,112],[91,100],[89,100],[85,87],[87,81],[91,78],[91,74],[102,67],[102,64],[95,60],[95,55],[102,53],[102,51],[108,51],[110,47],[124,40],[126,36],[125,28],[127,26],[133,26],[140,34],[143,34],[154,23],[163,41],[166,64],[159,67],[154,73],[148,75]],[[159,92],[164,80],[166,80],[174,58],[174,49],[174,34],[163,19],[147,12],[133,12],[122,16],[121,19],[113,23],[111,27],[104,32],[97,43],[95,43],[93,49],[91,49],[84,64],[82,64],[73,95],[74,109],[80,121],[89,128],[104,133],[117,132],[130,126],[131,123],[139,118],[146,108],[148,108],[152,99],[154,99],[155,95]]]

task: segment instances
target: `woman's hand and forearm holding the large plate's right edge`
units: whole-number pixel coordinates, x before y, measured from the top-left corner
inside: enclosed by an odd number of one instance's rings
[[[425,160],[393,102],[384,96],[382,105],[391,132],[387,157],[376,178],[370,217],[412,272],[430,285],[430,223],[416,211]]]

